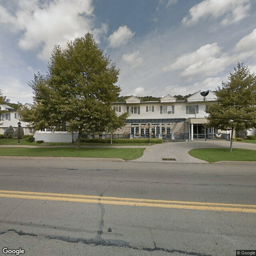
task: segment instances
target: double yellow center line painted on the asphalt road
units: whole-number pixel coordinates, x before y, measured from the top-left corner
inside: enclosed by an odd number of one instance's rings
[[[154,199],[140,199],[140,198],[109,197],[109,196],[87,196],[87,195],[39,193],[39,192],[25,192],[25,191],[9,191],[9,190],[0,190],[0,197],[64,201],[64,202],[80,202],[80,203],[88,203],[88,204],[100,203],[100,204],[112,204],[112,205],[122,205],[122,206],[176,208],[176,209],[184,209],[184,210],[190,209],[190,210],[256,213],[256,205],[247,205],[247,204],[187,202],[187,201],[173,201],[173,200],[154,200]]]

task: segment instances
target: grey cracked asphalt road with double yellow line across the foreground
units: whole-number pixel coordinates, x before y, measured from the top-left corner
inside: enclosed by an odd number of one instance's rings
[[[255,164],[1,157],[0,190],[0,255],[256,250]]]

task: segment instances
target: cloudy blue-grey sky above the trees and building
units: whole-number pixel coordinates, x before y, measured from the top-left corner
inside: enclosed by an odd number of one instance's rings
[[[0,89],[32,103],[53,46],[89,31],[123,96],[215,90],[237,62],[256,72],[255,21],[255,0],[0,0]]]

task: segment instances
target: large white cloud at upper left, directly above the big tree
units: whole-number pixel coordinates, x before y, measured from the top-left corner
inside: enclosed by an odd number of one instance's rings
[[[68,40],[93,30],[92,0],[19,0],[15,15],[0,6],[0,22],[22,31],[18,45],[24,50],[42,47],[38,57],[48,60],[53,46],[66,46]],[[106,33],[107,26],[94,29],[96,36]]]

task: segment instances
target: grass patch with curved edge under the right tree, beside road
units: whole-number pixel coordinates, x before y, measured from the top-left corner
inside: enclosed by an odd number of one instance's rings
[[[256,150],[233,148],[197,148],[188,152],[191,156],[207,162],[218,161],[256,161]]]

